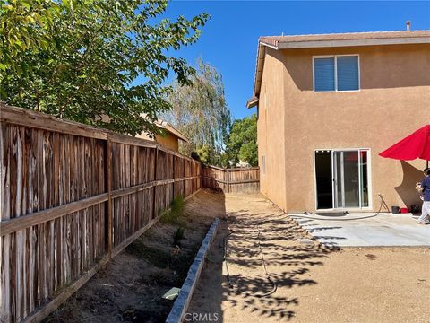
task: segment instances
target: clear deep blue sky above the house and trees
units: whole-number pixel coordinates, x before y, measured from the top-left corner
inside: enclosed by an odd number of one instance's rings
[[[191,18],[211,14],[201,39],[176,55],[191,64],[198,57],[222,74],[228,107],[233,118],[245,118],[255,111],[246,109],[252,96],[255,57],[259,36],[405,30],[430,30],[430,1],[183,1],[168,5],[167,16]]]

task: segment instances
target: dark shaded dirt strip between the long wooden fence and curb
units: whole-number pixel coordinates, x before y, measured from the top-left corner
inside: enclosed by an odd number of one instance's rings
[[[185,203],[185,227],[174,248],[176,223],[157,223],[94,275],[49,322],[164,322],[173,301],[161,299],[181,287],[214,217],[225,214],[224,199],[205,191]]]

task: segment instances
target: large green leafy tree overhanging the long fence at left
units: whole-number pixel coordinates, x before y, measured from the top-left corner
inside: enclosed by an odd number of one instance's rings
[[[2,100],[135,135],[170,109],[169,55],[199,39],[206,13],[158,20],[167,0],[0,0]]]

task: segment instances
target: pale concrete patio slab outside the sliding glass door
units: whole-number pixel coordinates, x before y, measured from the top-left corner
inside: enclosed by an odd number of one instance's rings
[[[288,214],[324,245],[339,247],[430,246],[430,225],[412,214]]]

